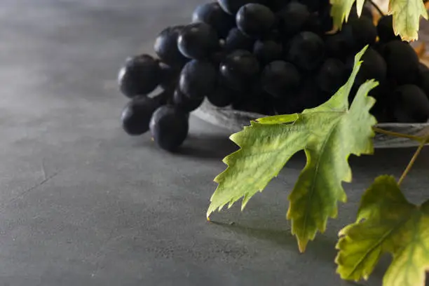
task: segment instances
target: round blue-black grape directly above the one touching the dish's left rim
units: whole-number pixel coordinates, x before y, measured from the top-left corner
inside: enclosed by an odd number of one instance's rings
[[[210,94],[216,84],[217,71],[210,62],[191,60],[182,69],[179,88],[191,99],[200,99]]]

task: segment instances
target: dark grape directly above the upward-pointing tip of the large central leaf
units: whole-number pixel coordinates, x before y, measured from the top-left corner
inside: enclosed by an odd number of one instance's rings
[[[377,37],[377,29],[372,20],[365,17],[349,20],[342,32],[348,46],[354,50],[374,44]]]

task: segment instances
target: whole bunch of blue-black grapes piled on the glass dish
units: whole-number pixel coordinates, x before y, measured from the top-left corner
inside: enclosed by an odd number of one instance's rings
[[[365,6],[353,7],[332,34],[329,0],[218,0],[198,6],[188,25],[158,34],[156,57],[129,57],[118,83],[130,98],[123,109],[129,135],[150,130],[162,149],[186,139],[189,112],[207,99],[216,107],[292,114],[325,102],[347,80],[357,51],[363,55],[350,95],[368,79],[381,122],[426,122],[429,69],[393,32],[392,16],[374,25]],[[153,95],[156,88],[161,92]]]

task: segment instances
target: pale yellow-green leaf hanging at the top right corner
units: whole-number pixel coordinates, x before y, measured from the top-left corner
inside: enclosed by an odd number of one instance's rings
[[[420,16],[428,20],[422,0],[390,0],[388,14],[393,15],[393,29],[404,41],[418,39]]]

